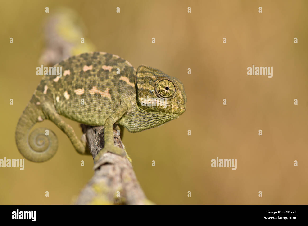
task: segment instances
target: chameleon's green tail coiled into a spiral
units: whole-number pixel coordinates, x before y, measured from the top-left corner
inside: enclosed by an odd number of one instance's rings
[[[58,139],[51,130],[37,128],[29,136],[34,124],[44,119],[43,111],[30,101],[16,127],[17,148],[25,158],[33,162],[47,161],[55,155],[58,149]]]

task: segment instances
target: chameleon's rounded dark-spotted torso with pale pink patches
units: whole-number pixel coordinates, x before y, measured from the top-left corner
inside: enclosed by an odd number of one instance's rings
[[[103,125],[120,106],[119,81],[127,83],[127,95],[136,99],[136,69],[119,56],[95,52],[72,56],[56,64],[62,76],[45,75],[37,88],[53,100],[56,111],[91,126]]]

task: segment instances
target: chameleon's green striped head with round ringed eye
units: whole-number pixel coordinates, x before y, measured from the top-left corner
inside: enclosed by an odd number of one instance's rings
[[[164,72],[141,65],[136,73],[137,104],[147,112],[160,113],[169,121],[186,109],[186,94],[180,80]]]

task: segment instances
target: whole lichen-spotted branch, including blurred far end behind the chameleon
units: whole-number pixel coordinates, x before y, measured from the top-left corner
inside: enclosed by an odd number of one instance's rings
[[[44,24],[46,49],[40,57],[41,64],[52,66],[71,56],[72,49],[80,53],[92,50],[91,45],[86,44],[82,49],[76,49],[76,40],[66,35],[71,32],[63,34],[56,29],[58,27],[66,30],[73,29],[73,33],[83,34],[84,29],[79,22],[79,16],[71,9],[59,9],[58,13],[48,17]],[[67,24],[73,26],[68,28]],[[51,33],[52,36],[50,36]],[[94,159],[104,146],[104,127],[91,127],[83,124],[81,127],[84,133],[82,140],[87,142]],[[121,138],[115,131],[114,140],[115,145],[124,149]],[[99,159],[99,162],[101,166],[95,169],[94,176],[81,191],[75,204],[153,204],[146,199],[132,169],[132,164],[126,157],[107,152]]]

